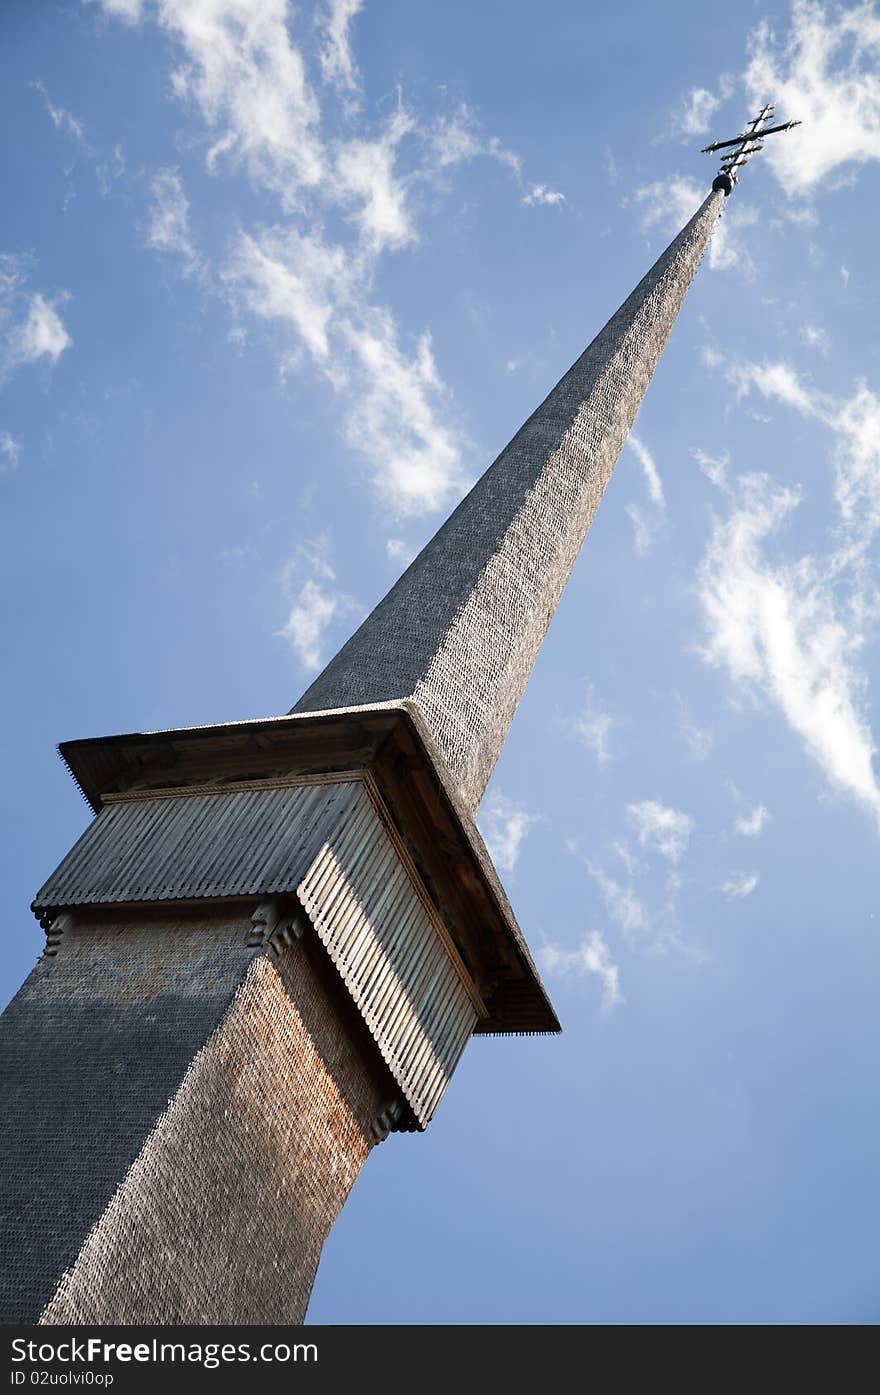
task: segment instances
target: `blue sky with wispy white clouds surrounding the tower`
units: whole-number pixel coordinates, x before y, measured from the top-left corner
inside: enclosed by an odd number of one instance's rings
[[[287,710],[764,100],[480,815],[563,1035],[370,1158],[318,1322],[870,1322],[880,11],[7,0],[3,997],[57,741]],[[47,1063],[50,1069],[50,1063]]]

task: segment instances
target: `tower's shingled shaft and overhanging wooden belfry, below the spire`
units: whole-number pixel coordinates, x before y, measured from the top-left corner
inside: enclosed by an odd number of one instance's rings
[[[471,1032],[558,1030],[519,926],[407,704],[61,752],[96,817],[0,1018],[0,1320],[300,1322]]]

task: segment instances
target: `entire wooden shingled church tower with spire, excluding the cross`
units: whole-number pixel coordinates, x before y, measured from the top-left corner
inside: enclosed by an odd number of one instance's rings
[[[473,1034],[559,1024],[473,815],[714,191],[293,713],[61,746],[95,819],[0,1021],[0,1315],[291,1322]]]

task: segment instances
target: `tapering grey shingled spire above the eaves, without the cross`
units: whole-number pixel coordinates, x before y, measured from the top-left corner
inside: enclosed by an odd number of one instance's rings
[[[724,197],[713,190],[294,713],[410,699],[477,808]]]

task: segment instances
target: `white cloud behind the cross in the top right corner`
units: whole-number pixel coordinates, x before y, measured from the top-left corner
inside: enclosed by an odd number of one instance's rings
[[[746,91],[773,92],[781,120],[803,130],[767,141],[763,160],[788,194],[809,195],[845,166],[880,159],[880,14],[867,3],[794,0],[788,32],[768,21],[753,32]]]

